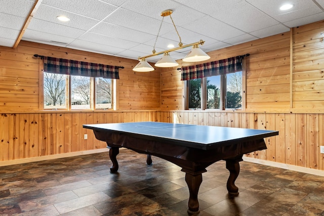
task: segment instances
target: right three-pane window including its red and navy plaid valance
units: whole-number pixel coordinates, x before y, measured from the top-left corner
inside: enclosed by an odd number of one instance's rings
[[[186,109],[244,109],[246,54],[181,68]]]

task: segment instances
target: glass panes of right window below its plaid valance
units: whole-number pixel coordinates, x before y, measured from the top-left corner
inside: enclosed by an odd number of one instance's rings
[[[242,71],[187,80],[188,109],[241,109]]]

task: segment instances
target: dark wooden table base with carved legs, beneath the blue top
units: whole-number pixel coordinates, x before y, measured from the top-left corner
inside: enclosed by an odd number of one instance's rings
[[[209,150],[190,148],[183,145],[168,143],[167,141],[156,141],[145,136],[132,135],[123,132],[101,131],[93,129],[98,140],[107,143],[109,156],[112,161],[111,172],[117,172],[118,162],[116,159],[119,148],[124,147],[138,153],[147,154],[147,164],[151,164],[150,155],[154,155],[168,160],[182,169],[186,173],[185,181],[189,189],[188,212],[199,210],[198,190],[203,181],[202,173],[206,172],[206,167],[219,160],[226,161],[226,168],[229,170],[227,180],[227,190],[230,194],[238,194],[235,180],[239,174],[239,161],[242,155],[257,150],[266,149],[264,139],[249,142],[239,142],[236,144],[219,146]]]

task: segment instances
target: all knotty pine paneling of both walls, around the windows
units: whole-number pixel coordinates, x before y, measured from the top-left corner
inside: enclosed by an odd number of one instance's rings
[[[324,170],[321,32],[324,21],[210,52],[209,61],[250,54],[246,110],[234,112],[183,110],[183,81],[176,68],[139,73],[132,71],[136,60],[27,41],[17,49],[0,47],[0,162],[105,148],[82,128],[84,123],[153,120],[275,129],[279,136],[266,139],[268,149],[249,157]],[[117,81],[118,110],[42,111],[39,60],[33,54],[124,66]]]

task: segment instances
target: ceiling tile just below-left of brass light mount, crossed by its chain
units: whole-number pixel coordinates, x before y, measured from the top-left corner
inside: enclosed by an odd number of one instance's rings
[[[137,31],[142,31],[150,34],[157,34],[161,21],[153,19],[151,17],[144,16],[142,14],[135,13],[133,11],[118,9],[104,19],[104,22],[124,26]],[[164,22],[160,33],[168,32],[173,28],[169,23]]]

